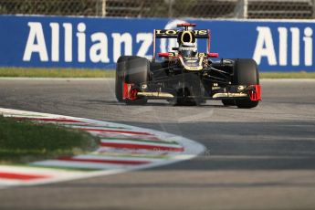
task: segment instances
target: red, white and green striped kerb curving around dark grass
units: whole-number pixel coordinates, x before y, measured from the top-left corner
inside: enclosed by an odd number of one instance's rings
[[[100,135],[103,145],[98,150],[88,154],[27,163],[25,166],[0,165],[0,189],[21,185],[52,184],[75,179],[125,173],[189,160],[199,153],[205,152],[205,147],[202,144],[163,131],[142,129],[108,121],[94,121],[24,110],[0,108],[0,114],[5,117],[22,118],[42,123],[54,122],[65,127],[71,127],[71,124],[73,124],[73,127],[79,129],[95,128],[117,131],[117,133],[110,133],[110,137],[104,136],[103,131],[89,131],[93,135]],[[84,125],[78,126],[80,123]],[[110,139],[123,137],[128,140],[119,141]],[[108,141],[106,141],[106,138],[108,138]],[[104,147],[104,142],[115,142],[117,145],[115,148]],[[120,148],[119,142],[123,142],[124,146],[127,144],[128,146],[136,145],[137,147],[141,145],[142,147],[140,148],[144,149]],[[171,149],[169,151],[151,150],[152,148],[145,149],[149,144],[152,146],[156,145],[157,148],[165,146],[166,149],[168,147]],[[178,148],[181,150],[172,150]]]

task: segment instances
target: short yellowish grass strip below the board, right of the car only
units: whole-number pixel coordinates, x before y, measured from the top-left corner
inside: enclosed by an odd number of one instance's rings
[[[315,72],[262,72],[260,79],[315,79]]]

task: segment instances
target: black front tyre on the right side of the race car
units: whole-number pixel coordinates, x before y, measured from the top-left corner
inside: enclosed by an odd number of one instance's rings
[[[233,84],[235,85],[258,85],[259,74],[257,63],[254,59],[236,59]],[[236,106],[242,109],[257,107],[258,100],[239,99],[235,100]]]

